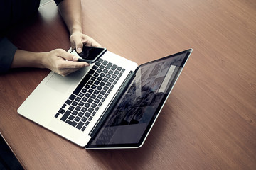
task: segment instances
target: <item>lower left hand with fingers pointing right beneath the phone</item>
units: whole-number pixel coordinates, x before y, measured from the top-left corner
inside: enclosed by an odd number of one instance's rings
[[[77,56],[72,55],[63,49],[55,49],[50,52],[44,52],[43,54],[43,66],[63,77],[82,67],[89,66],[87,62],[77,62]]]

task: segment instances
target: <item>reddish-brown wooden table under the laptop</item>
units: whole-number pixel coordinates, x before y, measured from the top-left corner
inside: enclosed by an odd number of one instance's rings
[[[83,31],[138,64],[193,48],[140,149],[85,150],[17,113],[50,72],[0,75],[0,132],[26,169],[256,169],[255,0],[82,1]],[[35,52],[68,50],[53,2],[10,35]]]

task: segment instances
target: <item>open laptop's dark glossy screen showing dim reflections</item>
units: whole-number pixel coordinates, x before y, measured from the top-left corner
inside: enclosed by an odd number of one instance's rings
[[[191,50],[138,67],[89,148],[139,147],[169,96]]]

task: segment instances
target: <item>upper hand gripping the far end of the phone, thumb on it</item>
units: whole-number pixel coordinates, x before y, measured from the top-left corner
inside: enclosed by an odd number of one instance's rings
[[[70,35],[70,45],[72,49],[75,49],[78,53],[82,52],[83,45],[101,47],[101,45],[93,38],[81,33],[80,31],[76,31]]]

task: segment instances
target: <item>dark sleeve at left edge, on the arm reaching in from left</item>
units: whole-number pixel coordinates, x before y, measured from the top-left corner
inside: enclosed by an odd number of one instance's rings
[[[0,73],[10,69],[16,50],[17,47],[7,38],[0,38]]]

